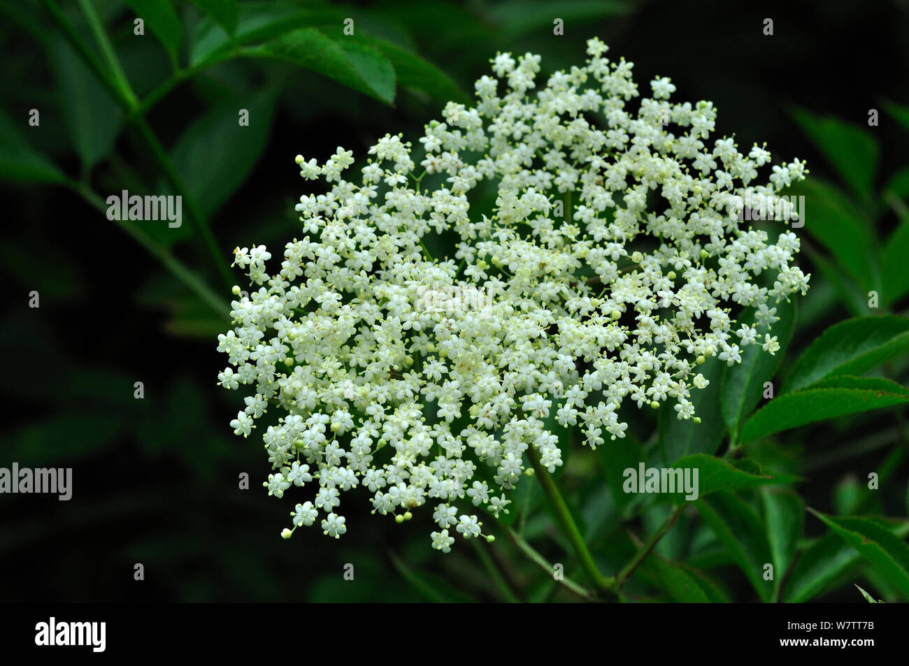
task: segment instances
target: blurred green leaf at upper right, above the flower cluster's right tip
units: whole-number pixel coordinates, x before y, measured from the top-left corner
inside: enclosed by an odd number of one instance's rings
[[[880,153],[874,136],[862,127],[834,117],[822,117],[802,109],[793,111],[802,126],[837,173],[863,201],[871,199],[877,158]]]

